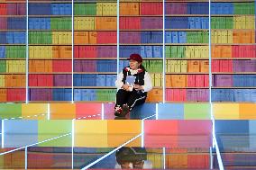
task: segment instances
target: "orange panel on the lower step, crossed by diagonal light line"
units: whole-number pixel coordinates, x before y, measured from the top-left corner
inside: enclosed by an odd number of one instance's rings
[[[142,132],[142,121],[109,120],[107,121],[107,130],[108,147],[118,147]],[[127,146],[140,147],[141,141],[141,138],[134,139]]]

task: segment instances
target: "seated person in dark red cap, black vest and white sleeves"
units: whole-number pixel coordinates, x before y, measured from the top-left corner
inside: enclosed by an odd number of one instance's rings
[[[115,86],[117,87],[115,116],[125,116],[133,110],[135,105],[145,103],[147,92],[152,89],[151,76],[142,66],[142,57],[132,54],[130,66],[124,67],[118,74]]]

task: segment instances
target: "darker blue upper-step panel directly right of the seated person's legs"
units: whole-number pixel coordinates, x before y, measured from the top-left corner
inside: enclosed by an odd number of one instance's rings
[[[143,118],[154,115],[155,113],[155,103],[143,103],[142,105],[138,105],[133,108],[133,111],[130,113],[130,119],[142,120]],[[151,119],[155,119],[155,116],[153,116]]]

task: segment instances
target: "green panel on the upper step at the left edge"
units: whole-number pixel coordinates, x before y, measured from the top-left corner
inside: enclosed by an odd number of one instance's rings
[[[1,119],[19,118],[22,116],[21,103],[0,103]]]

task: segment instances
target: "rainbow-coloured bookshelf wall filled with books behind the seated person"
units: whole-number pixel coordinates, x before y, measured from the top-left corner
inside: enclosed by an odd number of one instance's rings
[[[253,0],[212,1],[211,21],[206,0],[2,0],[0,9],[3,103],[114,102],[131,53],[151,73],[148,102],[256,101]]]

